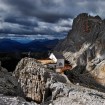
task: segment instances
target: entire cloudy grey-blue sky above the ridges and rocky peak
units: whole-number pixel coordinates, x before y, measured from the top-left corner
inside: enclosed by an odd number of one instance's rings
[[[105,18],[105,0],[0,0],[0,38],[64,38],[83,12]]]

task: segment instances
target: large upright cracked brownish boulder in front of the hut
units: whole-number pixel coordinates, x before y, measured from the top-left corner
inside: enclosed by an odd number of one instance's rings
[[[51,89],[46,87],[48,80],[67,82],[67,78],[47,69],[33,58],[22,59],[16,67],[14,76],[21,84],[25,97],[37,103],[41,103],[52,94]]]

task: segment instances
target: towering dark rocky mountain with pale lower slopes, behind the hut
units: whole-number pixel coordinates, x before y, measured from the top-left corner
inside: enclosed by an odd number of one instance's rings
[[[98,79],[92,70],[96,70],[97,64],[105,59],[105,20],[99,16],[90,16],[86,13],[78,15],[69,31],[68,36],[55,47],[55,51],[61,51],[65,58],[71,63],[76,74],[89,74],[89,77]],[[102,73],[99,69],[98,73]],[[103,66],[102,66],[103,67]],[[91,73],[92,72],[92,73]],[[100,74],[102,77],[104,73]],[[102,78],[101,77],[101,78]],[[85,81],[85,79],[81,79]],[[104,80],[104,78],[103,78]],[[98,81],[103,85],[102,81]],[[105,86],[105,85],[104,85]]]

